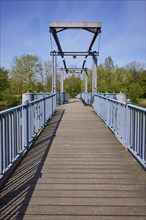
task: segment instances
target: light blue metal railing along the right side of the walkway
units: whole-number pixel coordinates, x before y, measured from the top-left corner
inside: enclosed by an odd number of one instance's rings
[[[146,168],[146,109],[94,94],[94,111]]]

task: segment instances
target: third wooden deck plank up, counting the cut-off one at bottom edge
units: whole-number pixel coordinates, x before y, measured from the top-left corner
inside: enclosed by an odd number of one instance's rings
[[[0,204],[0,207],[6,205],[9,198]],[[144,206],[145,198],[57,198],[57,197],[29,197],[24,200],[23,205],[28,202],[31,206]]]

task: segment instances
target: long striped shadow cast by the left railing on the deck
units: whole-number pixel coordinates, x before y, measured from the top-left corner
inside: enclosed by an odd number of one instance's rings
[[[57,111],[1,189],[0,219],[23,219],[64,110]]]

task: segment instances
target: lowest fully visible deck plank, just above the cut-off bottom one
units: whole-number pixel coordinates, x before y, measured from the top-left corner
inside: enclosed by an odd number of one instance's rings
[[[19,211],[19,214],[37,214],[37,215],[89,215],[89,216],[144,216],[145,206],[28,206]]]

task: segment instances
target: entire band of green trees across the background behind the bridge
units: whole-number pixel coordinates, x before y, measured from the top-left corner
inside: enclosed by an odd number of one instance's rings
[[[57,74],[56,90],[60,92],[60,76]],[[110,56],[97,68],[98,92],[123,92],[132,102],[146,98],[146,70],[140,62],[134,61],[118,68]],[[22,55],[14,59],[10,71],[0,67],[0,99],[7,104],[20,102],[25,92],[52,92],[52,64],[42,63],[35,55]],[[75,97],[84,91],[84,80],[71,75],[64,81],[64,91]],[[88,92],[92,92],[92,70],[88,72]]]

